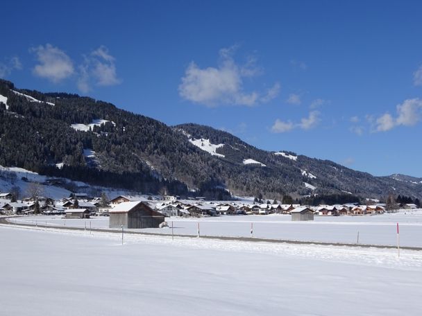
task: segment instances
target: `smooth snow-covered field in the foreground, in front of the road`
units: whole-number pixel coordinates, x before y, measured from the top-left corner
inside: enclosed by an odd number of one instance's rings
[[[0,226],[1,315],[420,315],[422,252]]]

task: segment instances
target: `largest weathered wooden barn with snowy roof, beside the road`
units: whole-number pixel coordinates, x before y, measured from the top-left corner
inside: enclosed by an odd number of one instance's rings
[[[145,202],[122,202],[110,209],[110,228],[158,228],[164,222],[164,215],[149,207]]]

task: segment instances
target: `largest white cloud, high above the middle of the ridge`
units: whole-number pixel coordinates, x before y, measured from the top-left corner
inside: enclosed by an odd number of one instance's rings
[[[191,62],[178,87],[180,96],[185,100],[208,106],[221,104],[253,106],[276,98],[280,91],[278,82],[265,94],[244,91],[243,79],[258,76],[261,71],[255,66],[254,58],[248,58],[244,65],[237,64],[233,59],[236,49],[237,46],[221,49],[218,67],[201,69],[195,62]]]

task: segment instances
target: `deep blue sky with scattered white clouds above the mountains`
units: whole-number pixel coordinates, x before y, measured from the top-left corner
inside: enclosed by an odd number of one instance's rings
[[[422,177],[421,1],[8,1],[0,77]]]

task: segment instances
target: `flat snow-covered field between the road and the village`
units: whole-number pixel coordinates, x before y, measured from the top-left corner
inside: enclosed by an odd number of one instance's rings
[[[50,227],[108,228],[108,218],[90,220],[64,219],[62,216],[33,216],[13,219],[15,222]],[[325,243],[359,243],[396,245],[396,223],[400,227],[400,245],[422,247],[422,210],[385,213],[377,216],[316,216],[314,221],[292,222],[289,215],[220,216],[218,218],[168,218],[174,234],[196,236],[198,223],[201,236],[253,236],[281,240]],[[136,229],[137,231],[171,234],[171,229]]]

